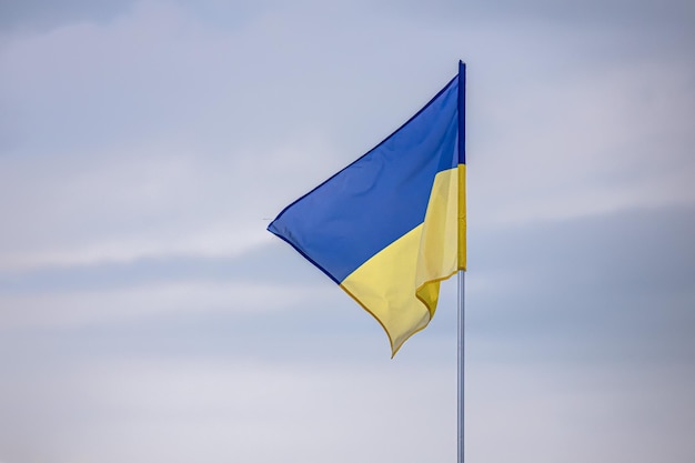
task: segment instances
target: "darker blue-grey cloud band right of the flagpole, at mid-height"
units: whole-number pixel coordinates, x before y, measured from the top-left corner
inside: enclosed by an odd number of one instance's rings
[[[692,207],[513,233],[473,228],[470,264],[480,273],[470,278],[484,290],[470,293],[472,335],[498,339],[491,355],[686,362],[695,355],[693,233]]]

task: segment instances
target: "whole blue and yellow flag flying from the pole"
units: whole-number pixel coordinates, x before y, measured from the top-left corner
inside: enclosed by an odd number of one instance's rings
[[[466,266],[464,108],[461,62],[411,120],[268,227],[381,323],[393,355]]]

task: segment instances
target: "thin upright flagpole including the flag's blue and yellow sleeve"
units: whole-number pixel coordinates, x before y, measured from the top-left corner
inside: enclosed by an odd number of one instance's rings
[[[459,160],[465,165],[465,87],[466,87],[466,66],[463,61],[459,61]],[[461,172],[459,173],[461,175]],[[464,172],[465,174],[465,172]],[[465,397],[465,269],[466,268],[466,207],[465,207],[465,181],[459,182],[462,191],[459,191],[459,227],[464,227],[463,233],[459,232],[459,294],[457,294],[457,463],[464,463],[464,397]],[[463,249],[463,253],[461,252]]]

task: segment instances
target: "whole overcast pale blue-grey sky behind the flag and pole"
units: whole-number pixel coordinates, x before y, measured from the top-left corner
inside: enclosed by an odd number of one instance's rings
[[[265,231],[469,67],[466,457],[695,461],[689,0],[0,0],[0,462],[453,462]]]

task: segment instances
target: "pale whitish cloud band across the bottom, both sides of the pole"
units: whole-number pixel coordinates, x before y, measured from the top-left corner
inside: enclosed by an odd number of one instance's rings
[[[0,443],[17,461],[36,449],[44,461],[104,463],[452,460],[453,368],[110,359],[62,365],[50,384],[40,381],[46,372],[24,371],[0,385],[0,405],[14,419],[0,420]],[[687,461],[692,445],[682,430],[693,425],[692,373],[674,364],[649,371],[656,374],[629,365],[474,362],[466,459]]]

